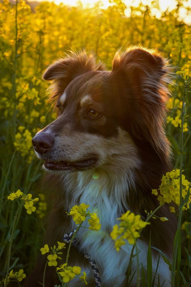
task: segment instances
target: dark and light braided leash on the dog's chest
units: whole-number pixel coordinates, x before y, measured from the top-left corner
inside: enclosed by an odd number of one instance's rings
[[[74,230],[74,232],[75,231],[76,230]],[[66,242],[66,243],[70,243],[71,237],[72,237],[74,232],[64,234],[63,241]],[[75,241],[75,239],[74,239],[74,241]],[[88,254],[84,254],[84,257],[91,264],[91,268],[93,270],[93,275],[94,275],[94,278],[95,278],[96,287],[101,287],[100,273],[99,273],[99,269],[98,269],[98,266],[97,266],[96,262]]]

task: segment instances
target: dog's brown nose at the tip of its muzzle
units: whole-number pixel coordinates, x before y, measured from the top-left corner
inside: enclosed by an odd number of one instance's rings
[[[32,144],[36,152],[46,153],[53,145],[53,137],[45,133],[37,134],[32,139]]]

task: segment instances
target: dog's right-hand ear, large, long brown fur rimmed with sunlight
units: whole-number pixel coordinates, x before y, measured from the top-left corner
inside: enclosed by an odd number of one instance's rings
[[[133,135],[149,141],[159,153],[165,152],[163,123],[170,82],[167,60],[155,50],[133,47],[115,54],[111,74],[129,87],[125,99]]]

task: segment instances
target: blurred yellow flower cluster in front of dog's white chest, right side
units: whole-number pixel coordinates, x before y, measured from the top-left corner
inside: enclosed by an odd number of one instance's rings
[[[114,225],[111,232],[111,238],[115,240],[115,248],[119,251],[121,245],[125,244],[125,240],[128,240],[129,244],[134,244],[136,238],[140,237],[139,230],[144,228],[149,222],[144,222],[140,215],[135,215],[128,210],[122,214],[119,225]]]

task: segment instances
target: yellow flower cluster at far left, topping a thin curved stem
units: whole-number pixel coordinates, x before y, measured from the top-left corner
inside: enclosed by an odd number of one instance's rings
[[[33,203],[38,201],[38,197],[36,197],[35,199],[32,199],[31,193],[24,194],[23,192],[21,192],[20,189],[17,190],[16,192],[10,193],[7,199],[10,199],[12,201],[14,199],[21,200],[21,204],[24,204],[24,207],[26,208],[28,214],[31,214],[32,212],[36,210],[36,207],[33,206]]]

